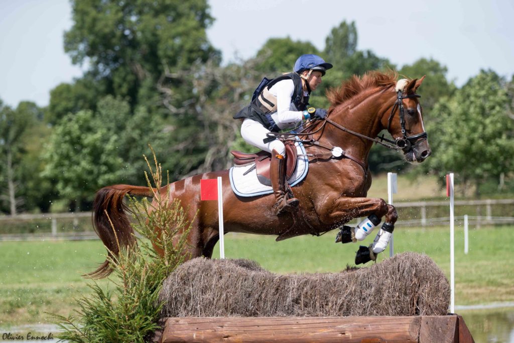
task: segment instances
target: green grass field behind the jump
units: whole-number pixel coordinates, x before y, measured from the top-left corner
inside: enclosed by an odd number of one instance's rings
[[[513,227],[472,229],[469,254],[464,234],[456,228],[457,304],[514,301]],[[358,244],[335,244],[336,232],[275,242],[271,236],[227,234],[227,258],[248,258],[277,273],[338,272],[352,265]],[[370,244],[375,234],[364,241]],[[395,230],[395,253],[417,251],[430,256],[449,278],[449,229]],[[81,274],[103,262],[101,241],[0,242],[0,327],[48,323],[45,312],[68,315],[76,309],[74,297],[89,293]],[[215,256],[219,248],[215,248]],[[389,256],[389,249],[379,260]],[[368,263],[371,265],[371,262]],[[102,284],[108,281],[102,280]]]

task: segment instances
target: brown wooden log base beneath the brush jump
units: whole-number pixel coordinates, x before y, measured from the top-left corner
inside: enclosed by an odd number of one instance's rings
[[[474,342],[458,315],[412,317],[164,318],[156,341],[172,342]]]

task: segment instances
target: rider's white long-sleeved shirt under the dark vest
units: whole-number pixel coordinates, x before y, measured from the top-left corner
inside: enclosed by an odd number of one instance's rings
[[[295,83],[291,80],[282,80],[271,86],[269,92],[277,97],[277,112],[271,114],[271,118],[282,129],[295,126],[303,119],[303,111],[298,111],[295,104],[291,102],[291,97],[295,93]],[[304,96],[308,96],[304,92]]]

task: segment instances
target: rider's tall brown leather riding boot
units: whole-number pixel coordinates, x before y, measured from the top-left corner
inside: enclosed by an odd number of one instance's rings
[[[286,156],[277,153],[277,150],[271,152],[269,176],[275,196],[275,204],[273,205],[275,214],[280,215],[298,210],[300,201],[296,197],[288,198],[286,193]]]

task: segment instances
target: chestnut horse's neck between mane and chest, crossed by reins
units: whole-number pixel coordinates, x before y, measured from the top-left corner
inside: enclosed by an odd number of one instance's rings
[[[391,98],[391,95],[384,92],[363,95],[356,98],[356,101],[347,101],[334,110],[334,118],[342,127],[360,133],[361,135],[376,138],[382,130],[381,118],[384,113],[384,104]],[[362,161],[368,160],[368,154],[373,146],[373,141],[356,135],[342,132],[332,127],[327,130],[326,139],[332,145],[342,147],[345,152]]]

